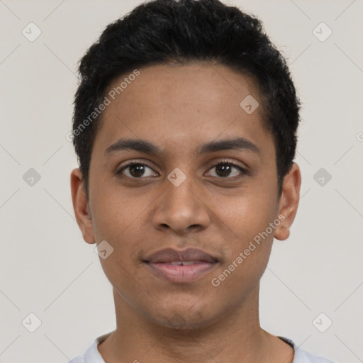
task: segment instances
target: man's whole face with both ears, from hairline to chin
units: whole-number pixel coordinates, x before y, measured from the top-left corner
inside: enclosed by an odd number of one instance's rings
[[[108,89],[88,205],[72,172],[74,211],[86,242],[107,241],[104,256],[113,248],[100,261],[116,304],[160,325],[207,326],[258,303],[272,240],[287,238],[296,213],[298,168],[280,197],[247,75],[201,64],[139,72],[119,95],[128,75]],[[259,101],[252,113],[247,96]]]

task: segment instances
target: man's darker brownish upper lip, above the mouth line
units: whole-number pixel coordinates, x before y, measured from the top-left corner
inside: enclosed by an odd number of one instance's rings
[[[165,248],[164,250],[160,250],[153,253],[152,255],[149,255],[145,259],[145,262],[151,263],[177,261],[203,261],[214,263],[218,262],[218,259],[202,250],[197,250],[196,248],[188,248],[183,251]]]

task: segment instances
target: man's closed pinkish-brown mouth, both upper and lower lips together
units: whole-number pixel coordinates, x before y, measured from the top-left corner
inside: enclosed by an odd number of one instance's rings
[[[211,272],[218,259],[194,248],[183,251],[166,248],[148,256],[143,262],[162,279],[174,283],[187,283]]]

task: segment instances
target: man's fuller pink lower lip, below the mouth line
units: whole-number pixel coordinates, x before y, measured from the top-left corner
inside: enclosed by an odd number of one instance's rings
[[[167,279],[171,282],[191,282],[201,278],[208,272],[211,272],[216,263],[199,262],[196,264],[189,264],[184,266],[182,264],[173,265],[167,263],[147,263],[147,265],[155,272],[159,277]]]

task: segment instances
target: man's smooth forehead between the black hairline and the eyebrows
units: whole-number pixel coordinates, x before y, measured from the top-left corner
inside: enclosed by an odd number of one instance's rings
[[[109,105],[96,135],[103,147],[125,136],[174,149],[237,133],[247,139],[266,136],[255,81],[223,65],[142,67],[114,79],[106,97]],[[243,108],[246,99],[255,100],[254,108],[259,104],[252,113]]]

